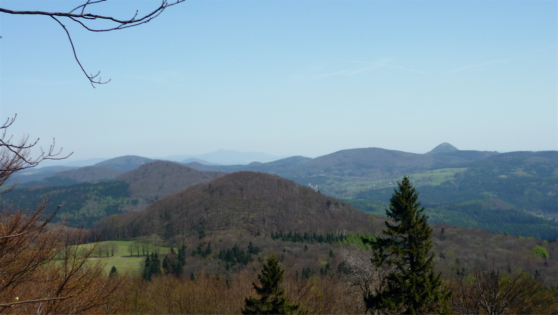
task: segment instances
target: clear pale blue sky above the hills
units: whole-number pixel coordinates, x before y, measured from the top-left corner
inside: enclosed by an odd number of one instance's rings
[[[69,12],[80,1],[2,0]],[[160,1],[109,0],[130,18]],[[558,150],[556,1],[195,1],[88,32],[0,13],[0,119],[70,160]],[[93,21],[95,22],[95,21]],[[36,151],[33,151],[36,154]]]

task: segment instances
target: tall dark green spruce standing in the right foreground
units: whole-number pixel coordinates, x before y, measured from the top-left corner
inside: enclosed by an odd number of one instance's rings
[[[372,245],[374,265],[391,270],[381,289],[365,296],[364,302],[368,309],[383,313],[448,313],[451,293],[444,288],[441,274],[434,274],[435,254],[429,254],[432,229],[417,202],[419,194],[407,176],[397,184],[386,209],[393,224],[386,221],[387,229],[382,231],[389,238],[363,238]]]

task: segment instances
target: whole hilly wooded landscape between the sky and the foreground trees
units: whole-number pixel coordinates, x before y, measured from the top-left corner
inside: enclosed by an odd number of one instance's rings
[[[464,277],[505,271],[536,292],[514,303],[536,296],[547,304],[528,312],[552,312],[558,152],[445,148],[424,155],[353,149],[229,166],[124,156],[26,182],[0,200],[4,212],[33,212],[46,201],[52,213],[59,204],[54,226],[81,231],[84,244],[64,247],[54,266],[68,264],[60,255],[89,251],[86,268],[127,279],[118,293],[122,312],[238,313],[257,270],[276,254],[291,301],[310,313],[364,313],[362,294],[381,281],[364,280],[373,270],[365,240],[382,237],[392,222],[390,198],[408,177],[425,207],[444,285],[465,294]],[[149,302],[161,299],[168,303]],[[452,312],[468,307],[451,301]],[[527,312],[519,304],[513,309]]]

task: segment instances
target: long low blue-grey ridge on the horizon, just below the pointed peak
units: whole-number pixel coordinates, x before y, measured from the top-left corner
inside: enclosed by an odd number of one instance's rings
[[[451,146],[451,145],[449,145]],[[453,146],[452,146],[453,147]],[[350,181],[372,181],[395,178],[420,171],[458,168],[476,160],[498,154],[491,151],[439,151],[435,154],[416,154],[378,147],[347,149],[310,159],[293,156],[269,163],[248,165],[187,164],[199,170],[261,171],[295,180],[300,184],[335,185]],[[328,190],[330,191],[330,190]]]

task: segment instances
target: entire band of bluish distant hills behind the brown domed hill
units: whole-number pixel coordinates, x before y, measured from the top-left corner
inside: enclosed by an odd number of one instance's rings
[[[440,149],[440,146],[437,147]],[[499,222],[499,228],[505,227],[510,231],[515,228],[517,235],[558,236],[554,223],[548,221],[549,218],[558,219],[557,151],[499,154],[494,151],[453,150],[452,147],[442,144],[442,149],[433,153],[436,150],[432,150],[429,154],[377,147],[348,149],[315,159],[292,156],[247,165],[203,165],[197,162],[181,165],[171,161],[150,162],[151,159],[139,156],[123,156],[103,162],[112,170],[92,166],[57,175],[49,173],[47,168],[33,169],[35,173],[25,176],[45,176],[48,173],[50,178],[20,185],[20,188],[33,185],[37,190],[15,189],[2,195],[1,199],[16,202],[16,207],[33,207],[33,204],[36,206],[42,201],[31,200],[33,191],[41,196],[54,194],[52,202],[63,205],[70,198],[71,201],[60,213],[85,215],[85,221],[89,223],[103,216],[143,209],[166,195],[224,176],[225,173],[252,171],[291,179],[330,198],[347,198],[343,199],[345,202],[350,199],[359,209],[379,209],[382,212],[396,182],[403,175],[411,175],[421,192],[423,204],[434,211],[431,218],[437,222],[453,222],[488,230],[496,224],[496,216],[508,220],[507,223]],[[118,175],[115,182],[103,182],[114,180],[114,174],[118,173],[115,168],[134,169],[127,175]],[[62,167],[56,170],[69,169]],[[95,173],[97,171],[98,174]],[[70,185],[78,181],[86,183]],[[98,183],[93,184],[95,182]],[[49,185],[52,187],[45,187]],[[56,188],[54,185],[70,186]],[[68,197],[70,191],[75,193]],[[103,199],[105,197],[106,200]]]

